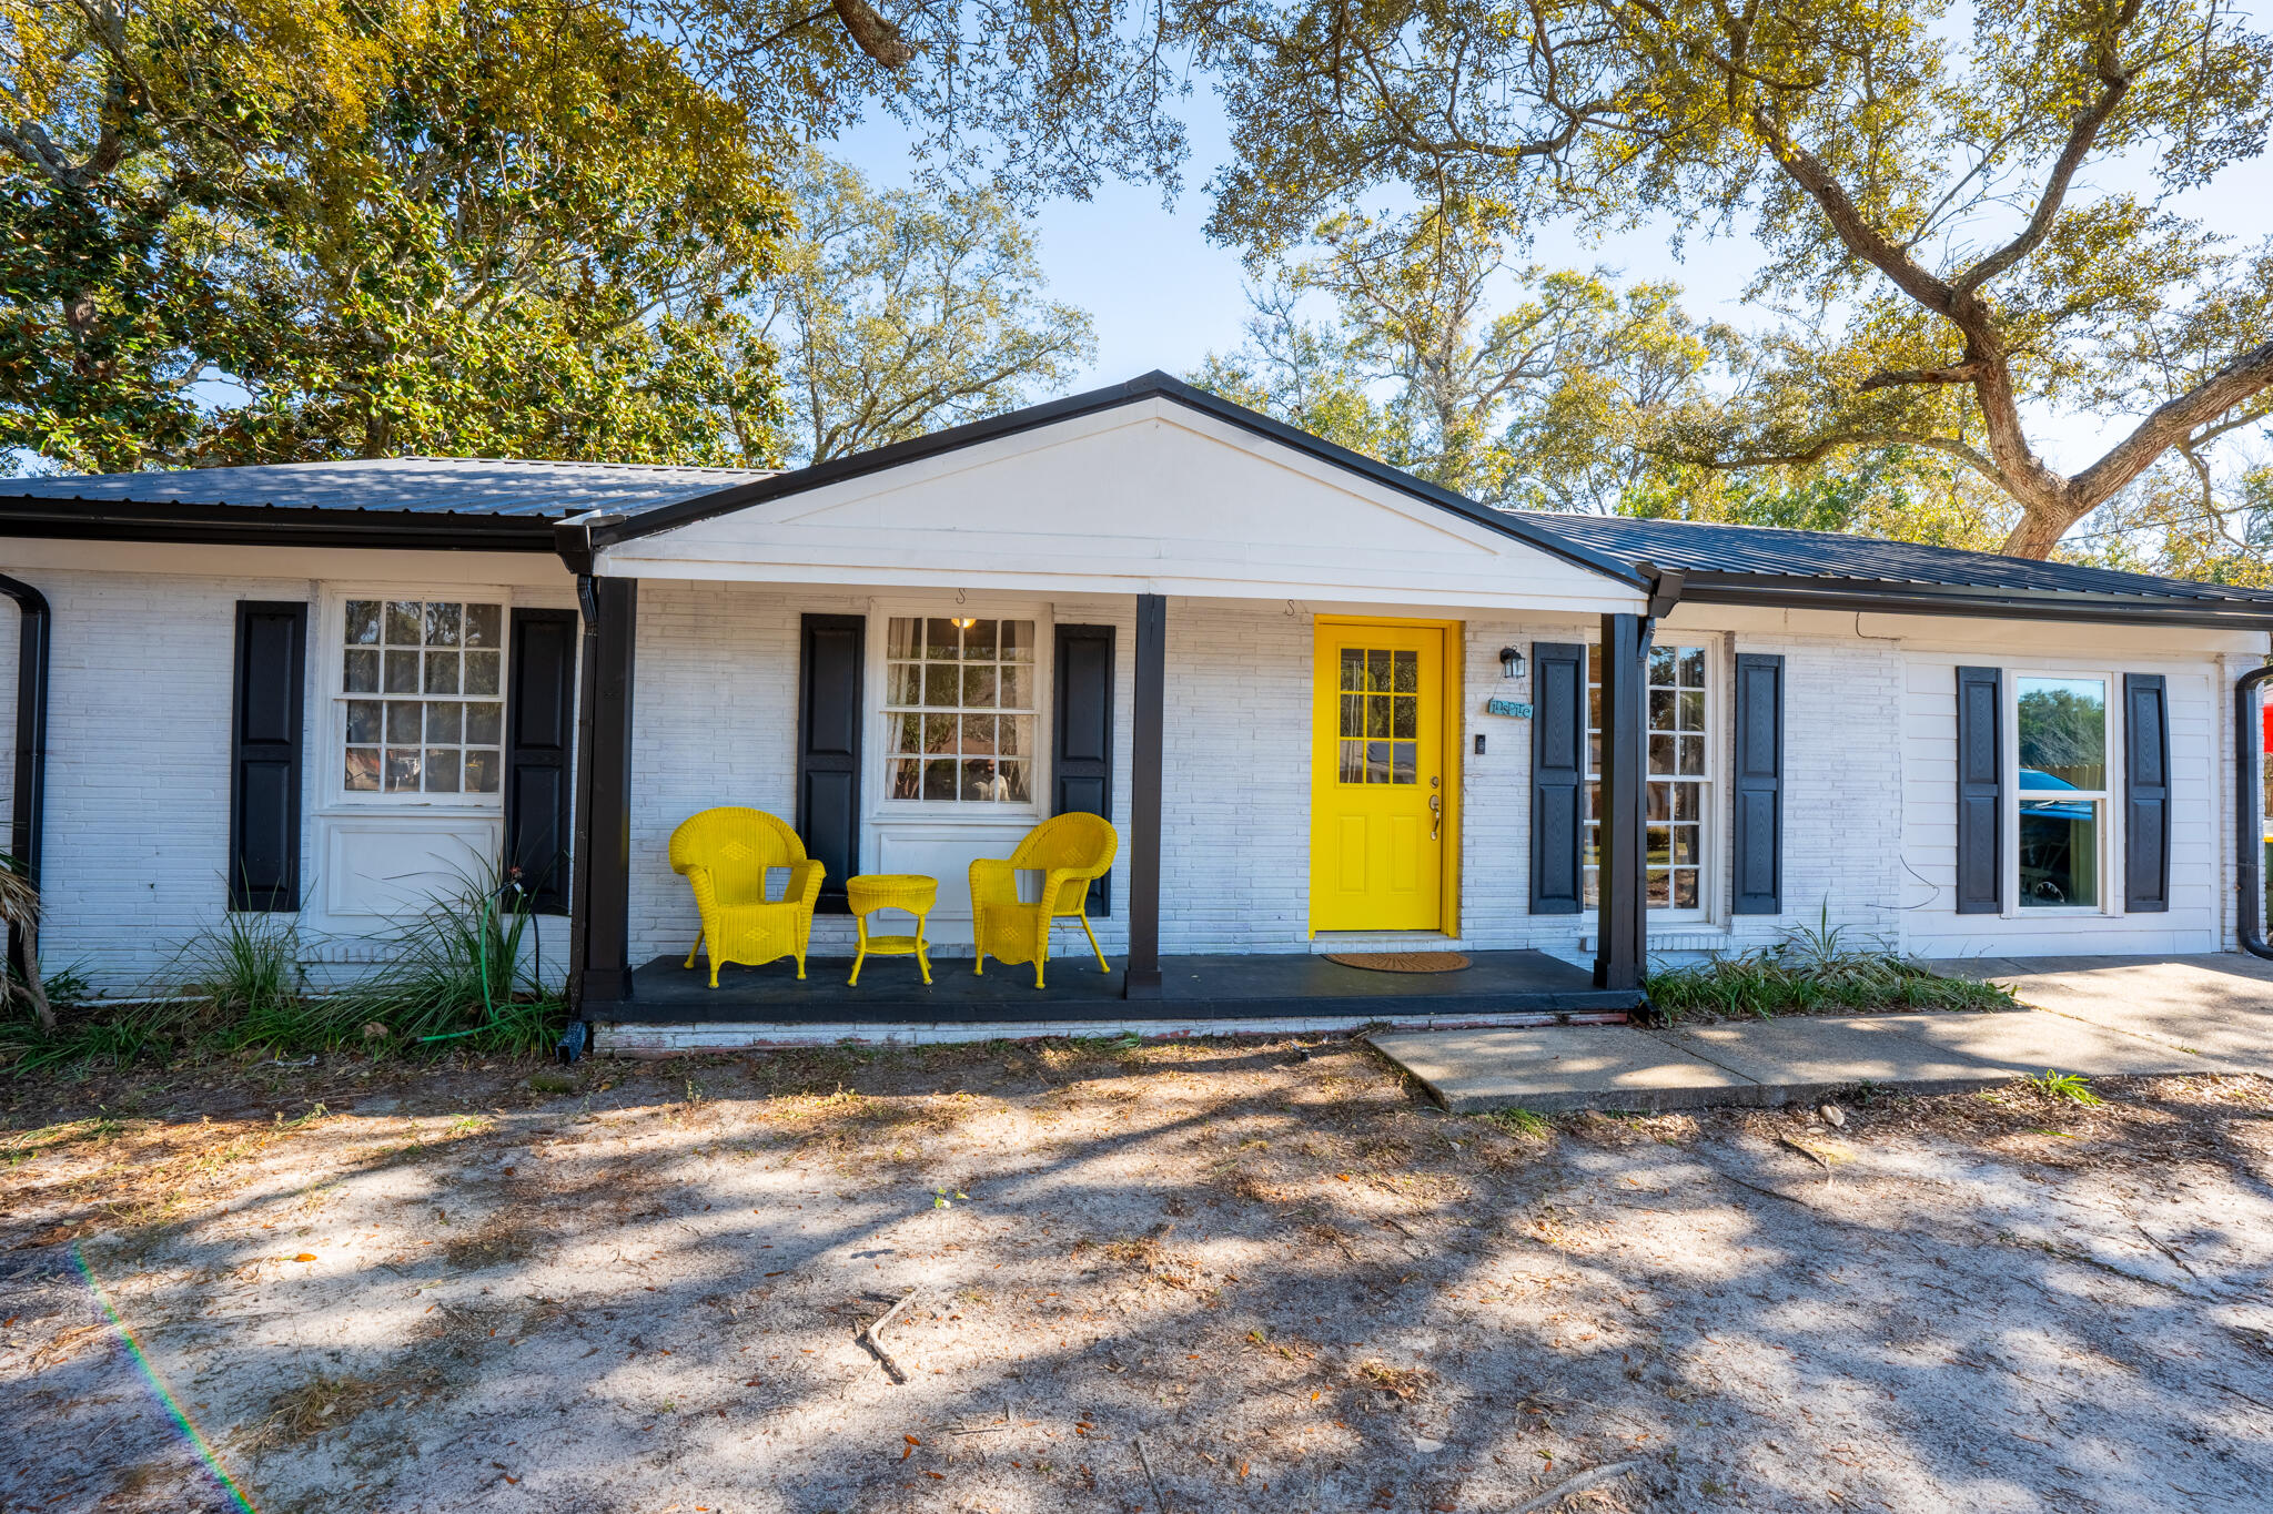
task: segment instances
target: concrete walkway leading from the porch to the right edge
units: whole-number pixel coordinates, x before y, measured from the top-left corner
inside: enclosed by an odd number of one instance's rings
[[[2087,1078],[2273,1074],[2273,962],[1968,958],[2028,1010],[1814,1015],[1687,1031],[1550,1026],[1375,1035],[1448,1110],[1687,1110],[1814,1101],[1859,1083],[1948,1094],[2046,1069]]]

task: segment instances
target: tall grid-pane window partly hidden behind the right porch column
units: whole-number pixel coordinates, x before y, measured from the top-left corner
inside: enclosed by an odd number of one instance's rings
[[[1587,908],[1602,899],[1602,674],[1587,647]],[[1705,649],[1650,647],[1646,760],[1646,883],[1652,910],[1705,908]]]

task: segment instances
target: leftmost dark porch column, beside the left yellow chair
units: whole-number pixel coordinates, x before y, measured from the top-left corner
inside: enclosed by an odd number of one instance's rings
[[[575,881],[568,1003],[577,1015],[632,996],[632,642],[639,579],[577,581]]]

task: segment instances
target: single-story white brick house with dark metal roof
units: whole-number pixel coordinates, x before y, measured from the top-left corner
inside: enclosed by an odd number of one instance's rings
[[[1918,956],[2230,949],[2232,688],[2273,626],[2250,590],[1489,511],[1164,375],[777,477],[32,479],[0,538],[50,965],[139,990],[257,908],[352,969],[505,858],[625,1026],[1614,1010],[1650,949],[1825,917]],[[816,697],[857,710],[830,751]],[[1064,808],[1077,742],[1114,972],[977,996],[964,869]],[[939,985],[850,990],[823,912],[805,985],[711,994],[668,865],[711,806],[836,888],[936,876]],[[1466,987],[1316,960],[1414,947]]]

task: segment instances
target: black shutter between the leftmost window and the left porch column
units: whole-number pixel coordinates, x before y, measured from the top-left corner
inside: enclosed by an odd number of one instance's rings
[[[568,912],[575,611],[514,611],[505,683],[505,865],[541,915]]]

